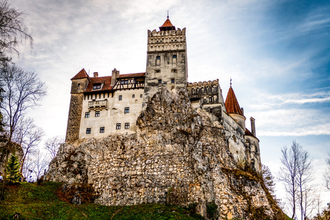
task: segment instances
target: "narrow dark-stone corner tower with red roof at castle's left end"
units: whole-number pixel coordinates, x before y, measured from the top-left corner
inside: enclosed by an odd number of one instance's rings
[[[83,110],[83,99],[87,84],[89,83],[89,76],[85,69],[81,69],[72,79],[71,85],[71,100],[69,107],[69,117],[67,119],[67,134],[65,135],[65,142],[72,143],[79,138],[79,128],[81,114]]]

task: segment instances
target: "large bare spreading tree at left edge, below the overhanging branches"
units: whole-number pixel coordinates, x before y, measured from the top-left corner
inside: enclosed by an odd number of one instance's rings
[[[20,120],[29,109],[39,106],[46,95],[45,83],[37,78],[34,72],[25,72],[14,64],[3,65],[0,69],[0,80],[3,84],[4,96],[0,109],[5,118],[5,130],[8,133],[8,144],[5,147],[5,167],[8,163],[8,155],[12,150],[12,142]],[[3,170],[3,179],[6,170]],[[4,186],[2,185],[1,197],[3,199]]]

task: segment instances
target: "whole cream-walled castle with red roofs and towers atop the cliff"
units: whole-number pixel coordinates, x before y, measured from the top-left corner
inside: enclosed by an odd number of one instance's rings
[[[113,133],[137,133],[137,118],[157,91],[185,87],[194,111],[204,111],[212,127],[221,129],[236,162],[250,164],[261,175],[259,140],[254,118],[251,131],[245,127],[243,108],[239,107],[230,83],[223,100],[219,80],[188,83],[186,28],[180,29],[166,19],[159,31],[148,30],[146,72],[90,77],[82,69],[72,80],[71,100],[65,142],[106,137]]]

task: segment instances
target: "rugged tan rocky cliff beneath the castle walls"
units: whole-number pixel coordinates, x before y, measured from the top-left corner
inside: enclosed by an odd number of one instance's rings
[[[186,89],[157,92],[137,124],[133,135],[63,144],[46,179],[90,184],[95,202],[109,206],[193,204],[206,218],[281,219],[262,178],[235,162],[221,127],[192,111]]]

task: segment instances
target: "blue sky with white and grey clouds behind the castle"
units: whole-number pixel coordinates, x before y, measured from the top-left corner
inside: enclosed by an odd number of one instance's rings
[[[223,97],[232,88],[247,118],[256,119],[261,161],[273,175],[281,148],[296,140],[314,159],[322,188],[330,151],[330,1],[313,0],[11,0],[24,11],[34,39],[14,62],[47,85],[30,116],[47,137],[65,136],[70,78],[145,72],[147,30],[159,30],[169,11],[186,28],[188,81],[219,78]],[[284,199],[281,183],[278,197]]]

